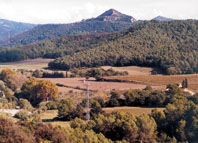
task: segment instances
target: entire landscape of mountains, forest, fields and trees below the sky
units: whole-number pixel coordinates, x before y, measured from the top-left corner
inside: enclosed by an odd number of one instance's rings
[[[0,143],[198,140],[198,20],[4,22]]]

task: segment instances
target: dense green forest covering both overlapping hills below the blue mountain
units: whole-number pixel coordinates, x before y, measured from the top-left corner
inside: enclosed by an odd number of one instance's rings
[[[198,72],[198,21],[147,21],[106,34],[64,36],[0,50],[0,61],[57,58],[50,68],[150,66],[167,74]]]

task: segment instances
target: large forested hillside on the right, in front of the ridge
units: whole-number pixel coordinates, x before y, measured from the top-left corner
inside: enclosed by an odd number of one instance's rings
[[[49,66],[70,69],[139,65],[160,67],[168,74],[198,72],[198,21],[150,21],[116,34],[122,36],[58,58]]]

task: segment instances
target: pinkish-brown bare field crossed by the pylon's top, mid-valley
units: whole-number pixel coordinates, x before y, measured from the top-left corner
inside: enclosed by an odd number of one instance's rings
[[[60,83],[73,88],[86,89],[85,78],[46,78],[53,83]],[[130,90],[130,89],[144,89],[145,84],[133,84],[133,83],[119,83],[119,82],[96,82],[94,79],[89,80],[89,89],[92,91],[111,91],[111,90]],[[164,89],[164,86],[153,86],[154,89]],[[65,89],[65,90],[64,90]],[[66,87],[59,87],[62,93],[67,93],[71,90]],[[76,89],[75,89],[76,90]],[[74,92],[75,92],[74,90]],[[78,90],[79,91],[79,90]],[[77,92],[78,92],[77,91]]]

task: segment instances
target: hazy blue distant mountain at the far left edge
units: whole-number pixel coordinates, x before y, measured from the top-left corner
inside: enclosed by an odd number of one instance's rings
[[[20,23],[20,22],[0,19],[0,40],[30,30],[34,26],[35,26],[34,24]]]

